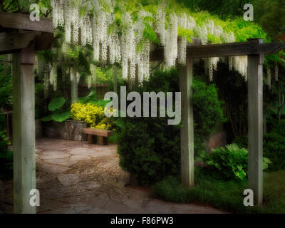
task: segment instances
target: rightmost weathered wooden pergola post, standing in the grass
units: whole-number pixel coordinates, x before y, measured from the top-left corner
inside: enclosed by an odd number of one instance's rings
[[[262,39],[257,39],[263,43]],[[262,81],[264,55],[248,56],[248,107],[249,107],[249,189],[254,192],[254,204],[261,205],[263,200],[262,185],[262,142],[263,111]]]

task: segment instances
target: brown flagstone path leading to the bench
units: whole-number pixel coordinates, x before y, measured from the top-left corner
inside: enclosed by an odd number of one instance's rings
[[[223,213],[195,204],[155,199],[150,190],[125,187],[117,145],[41,138],[36,142],[38,213]]]

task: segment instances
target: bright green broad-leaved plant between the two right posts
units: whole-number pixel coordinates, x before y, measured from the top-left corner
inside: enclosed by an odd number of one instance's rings
[[[239,148],[236,144],[219,147],[212,150],[210,154],[204,153],[202,161],[212,172],[217,172],[221,177],[227,180],[244,180],[247,176],[248,151],[245,148]],[[271,161],[264,157],[263,168],[268,167]]]

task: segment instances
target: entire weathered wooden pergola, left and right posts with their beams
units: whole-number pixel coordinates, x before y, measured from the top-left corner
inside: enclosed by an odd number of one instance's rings
[[[14,212],[36,213],[29,204],[29,192],[36,189],[34,57],[35,51],[51,47],[51,19],[30,21],[27,14],[0,12],[0,54],[13,56],[13,142],[14,142]],[[192,59],[221,56],[248,56],[249,78],[249,188],[254,202],[262,204],[262,66],[264,54],[277,53],[284,43],[263,43],[252,39],[244,43],[202,46],[199,39],[187,46],[187,64],[179,66],[182,92],[181,163],[182,184],[194,184],[194,124],[192,108]],[[150,54],[152,61],[162,60],[163,49]]]

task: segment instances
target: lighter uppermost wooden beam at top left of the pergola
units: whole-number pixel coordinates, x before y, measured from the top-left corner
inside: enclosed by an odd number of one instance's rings
[[[23,13],[0,12],[0,26],[53,33],[51,19],[41,17],[40,21],[31,21],[29,14]]]

